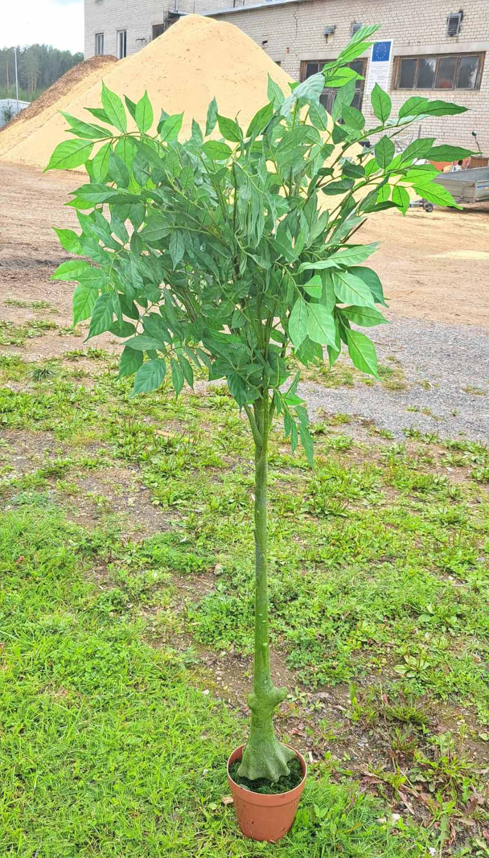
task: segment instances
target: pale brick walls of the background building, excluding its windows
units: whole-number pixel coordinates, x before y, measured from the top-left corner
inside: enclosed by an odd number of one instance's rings
[[[423,133],[437,136],[439,142],[473,148],[471,131],[476,130],[481,148],[489,154],[489,0],[464,0],[462,27],[456,37],[446,34],[447,16],[460,8],[451,0],[292,0],[260,8],[253,8],[257,0],[234,2],[240,5],[230,9],[232,0],[178,0],[178,10],[201,15],[217,12],[216,20],[240,27],[296,80],[302,61],[338,56],[347,45],[353,21],[380,24],[378,38],[394,39],[395,57],[487,51],[480,89],[395,90],[393,63],[389,93],[395,110],[417,94],[467,106],[469,112],[462,116],[426,120]],[[164,21],[168,9],[174,9],[174,0],[85,0],[85,57],[94,56],[95,33],[104,33],[104,52],[117,56],[117,32],[124,29],[127,54],[135,53],[148,44],[152,26]],[[326,38],[324,27],[329,25],[336,29]],[[366,96],[362,110],[367,119],[372,118]]]

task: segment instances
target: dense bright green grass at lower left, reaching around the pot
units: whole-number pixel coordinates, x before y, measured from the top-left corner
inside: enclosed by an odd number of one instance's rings
[[[141,621],[107,611],[96,559],[53,508],[3,516],[2,855],[422,854],[378,802],[314,775],[280,846],[239,837],[221,796],[243,719],[174,650],[150,649]]]

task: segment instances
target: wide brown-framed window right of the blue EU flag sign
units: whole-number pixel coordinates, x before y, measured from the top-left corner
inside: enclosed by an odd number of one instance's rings
[[[484,54],[396,57],[396,89],[479,89]]]

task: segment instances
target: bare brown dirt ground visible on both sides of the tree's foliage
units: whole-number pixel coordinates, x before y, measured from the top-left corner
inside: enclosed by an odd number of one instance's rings
[[[73,289],[49,279],[67,258],[51,227],[77,227],[75,209],[63,203],[78,184],[73,172],[43,174],[0,164],[2,300],[49,301],[58,325],[70,323]],[[381,243],[372,265],[389,297],[390,315],[489,327],[489,203],[462,212],[436,208],[431,215],[412,209],[405,218],[385,212],[372,217],[360,235]],[[25,309],[2,307],[3,319],[21,322],[28,316]],[[48,347],[58,354],[78,345],[73,336],[48,331],[36,338],[35,356],[49,353]]]

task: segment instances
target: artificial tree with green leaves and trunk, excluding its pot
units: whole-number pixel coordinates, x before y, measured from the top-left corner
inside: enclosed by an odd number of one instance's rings
[[[334,62],[286,97],[269,78],[269,101],[243,130],[213,100],[205,130],[194,121],[178,141],[183,114],[154,113],[145,93],[125,106],[105,86],[97,123],[65,115],[74,135],[57,146],[47,169],[84,164],[89,182],[73,192],[80,235],[57,230],[63,248],[87,259],[62,263],[58,280],[77,281],[75,323],[90,319],[88,338],[124,339],[119,377],[136,374],[133,394],[160,387],[169,368],[178,395],[193,385],[193,366],[226,378],[255,444],[255,672],[251,729],[239,775],[275,782],[293,752],[277,739],[273,714],[286,697],[269,665],[267,461],[269,432],[281,416],[293,450],[300,438],[312,463],[305,402],[287,356],[307,366],[333,365],[346,345],[353,365],[377,377],[375,348],[359,327],[385,322],[381,283],[361,263],[377,245],[358,242],[372,212],[406,213],[408,188],[454,204],[420,159],[455,160],[468,152],[415,138],[395,154],[395,137],[426,117],[465,111],[414,97],[391,118],[389,95],[371,92],[376,121],[351,106],[359,75],[349,68],[376,27],[363,27]],[[337,90],[332,118],[320,103]],[[99,124],[102,123],[102,124]],[[217,128],[216,128],[217,126]],[[210,139],[209,139],[210,136]],[[220,139],[217,139],[220,137]],[[375,147],[359,143],[374,137]],[[98,147],[91,158],[94,144]],[[129,228],[128,228],[129,227]],[[354,242],[351,239],[355,236]]]

